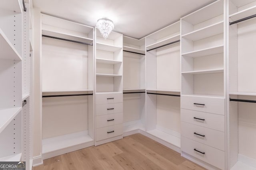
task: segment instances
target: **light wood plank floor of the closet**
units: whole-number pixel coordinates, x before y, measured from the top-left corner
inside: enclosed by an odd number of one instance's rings
[[[54,158],[33,170],[205,170],[139,133]]]

